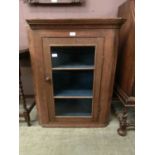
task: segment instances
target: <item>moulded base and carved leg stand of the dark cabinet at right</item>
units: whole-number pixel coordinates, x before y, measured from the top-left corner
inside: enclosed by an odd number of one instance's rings
[[[116,103],[114,103],[113,100],[112,110],[119,120],[119,128],[117,129],[117,133],[120,136],[126,136],[127,130],[129,128],[135,128],[135,97],[127,96],[127,94],[124,93],[121,89],[119,89],[119,87],[115,88],[115,95],[117,96],[117,100],[115,99]]]

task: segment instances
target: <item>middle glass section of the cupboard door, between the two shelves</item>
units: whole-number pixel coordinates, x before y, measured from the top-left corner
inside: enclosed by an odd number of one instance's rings
[[[54,96],[92,96],[93,71],[53,71]]]

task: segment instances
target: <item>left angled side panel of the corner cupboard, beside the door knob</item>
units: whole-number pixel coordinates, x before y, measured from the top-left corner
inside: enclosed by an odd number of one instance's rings
[[[39,123],[49,122],[44,86],[44,68],[42,59],[42,40],[35,31],[29,30],[29,48],[32,63],[35,99],[39,115]]]

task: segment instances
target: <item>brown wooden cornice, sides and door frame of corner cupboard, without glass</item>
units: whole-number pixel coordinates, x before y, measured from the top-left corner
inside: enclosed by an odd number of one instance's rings
[[[117,61],[118,33],[124,19],[29,19],[30,55],[39,122],[45,127],[101,127],[109,122]],[[75,36],[70,36],[75,32]],[[92,115],[55,115],[51,46],[94,46]],[[83,70],[85,71],[85,70]],[[46,77],[50,77],[46,80]]]

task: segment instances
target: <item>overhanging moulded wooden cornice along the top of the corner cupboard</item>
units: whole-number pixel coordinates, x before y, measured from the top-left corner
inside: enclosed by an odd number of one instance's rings
[[[59,29],[59,28],[120,28],[126,21],[122,18],[108,19],[27,19],[31,29]]]

